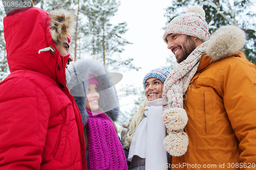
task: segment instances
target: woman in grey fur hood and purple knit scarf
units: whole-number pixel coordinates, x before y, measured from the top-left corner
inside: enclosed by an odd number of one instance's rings
[[[69,67],[68,87],[80,110],[86,144],[87,169],[127,169],[117,128],[119,104],[102,64],[78,60]]]

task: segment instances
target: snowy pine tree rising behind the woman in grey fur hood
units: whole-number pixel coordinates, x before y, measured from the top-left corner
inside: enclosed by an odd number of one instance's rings
[[[119,5],[116,0],[88,0],[85,3],[81,10],[88,17],[88,27],[84,33],[87,37],[85,49],[110,69],[120,70],[124,66],[138,70],[132,64],[133,59],[121,59],[119,56],[124,50],[123,46],[131,44],[122,38],[127,31],[126,22],[115,26],[111,23]]]

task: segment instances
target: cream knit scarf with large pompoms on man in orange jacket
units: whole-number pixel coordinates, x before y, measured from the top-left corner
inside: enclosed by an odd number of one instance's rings
[[[196,74],[205,45],[199,45],[186,60],[177,65],[164,83],[163,96],[169,108],[163,112],[163,122],[169,132],[164,139],[164,147],[172,156],[181,156],[187,151],[188,136],[184,128],[188,117],[183,109],[183,95]]]

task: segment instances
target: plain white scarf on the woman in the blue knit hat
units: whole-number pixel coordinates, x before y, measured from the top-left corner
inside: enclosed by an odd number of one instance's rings
[[[163,99],[146,101],[145,118],[136,129],[130,145],[128,160],[134,155],[145,158],[145,169],[161,169],[167,163],[167,153],[164,149],[165,126],[162,120],[163,110],[167,102]]]

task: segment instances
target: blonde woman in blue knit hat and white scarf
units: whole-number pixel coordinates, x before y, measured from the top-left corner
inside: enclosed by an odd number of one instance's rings
[[[129,128],[121,132],[124,150],[129,150],[129,169],[164,170],[170,166],[163,144],[166,129],[162,120],[163,110],[167,109],[162,97],[163,83],[168,75],[169,68],[153,69],[146,74],[143,79],[146,101],[133,116]]]

